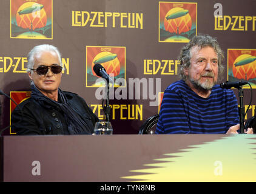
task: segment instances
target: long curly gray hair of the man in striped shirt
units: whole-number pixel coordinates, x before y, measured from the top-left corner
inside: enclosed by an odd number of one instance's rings
[[[221,78],[221,74],[224,71],[224,65],[223,65],[223,61],[224,61],[224,52],[223,50],[221,50],[220,45],[217,42],[217,39],[212,38],[209,35],[200,35],[200,36],[194,36],[190,42],[185,45],[181,51],[180,51],[180,56],[179,56],[179,60],[180,60],[180,71],[179,71],[179,76],[181,79],[183,79],[184,81],[186,81],[187,79],[187,75],[184,74],[184,70],[188,69],[190,66],[190,59],[191,59],[191,49],[194,46],[198,46],[201,49],[203,47],[212,47],[215,52],[218,55],[218,78]]]

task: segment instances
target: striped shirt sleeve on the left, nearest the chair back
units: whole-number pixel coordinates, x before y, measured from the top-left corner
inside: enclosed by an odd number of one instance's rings
[[[175,90],[166,89],[161,102],[156,133],[189,133],[189,122],[181,96]]]

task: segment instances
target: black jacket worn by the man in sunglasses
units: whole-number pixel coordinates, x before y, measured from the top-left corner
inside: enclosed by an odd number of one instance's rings
[[[91,133],[98,117],[93,114],[83,98],[71,92],[64,92],[67,101],[89,125]],[[35,99],[29,98],[19,104],[12,112],[12,130],[17,135],[69,135],[67,123],[61,110],[43,107]]]

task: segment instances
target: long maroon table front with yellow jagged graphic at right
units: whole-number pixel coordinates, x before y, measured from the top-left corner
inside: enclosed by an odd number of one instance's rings
[[[2,181],[256,181],[255,135],[1,137]]]

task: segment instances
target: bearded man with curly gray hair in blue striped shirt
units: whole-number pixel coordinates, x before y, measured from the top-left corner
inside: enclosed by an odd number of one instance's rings
[[[181,80],[164,91],[156,133],[238,133],[237,98],[217,85],[223,61],[217,39],[209,35],[194,36],[181,49]]]

